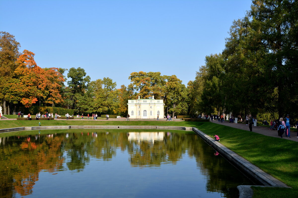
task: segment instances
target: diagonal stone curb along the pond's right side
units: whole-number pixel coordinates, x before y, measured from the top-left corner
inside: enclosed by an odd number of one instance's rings
[[[221,143],[214,141],[213,138],[209,137],[207,134],[204,134],[197,128],[194,127],[193,131],[196,134],[198,134],[203,140],[205,140],[207,143],[209,143],[209,145],[212,145],[217,151],[219,151],[227,159],[229,159],[233,163],[237,164],[237,166],[239,166],[241,169],[245,170],[249,175],[251,175],[253,178],[260,181],[265,186],[288,187],[285,183],[272,177],[268,173],[261,170],[259,167],[255,166],[254,164],[250,163],[249,161],[247,161],[243,157],[239,156],[235,152],[226,148]]]

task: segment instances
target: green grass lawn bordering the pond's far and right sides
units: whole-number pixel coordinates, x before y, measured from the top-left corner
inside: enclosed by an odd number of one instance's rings
[[[0,121],[0,128],[20,126],[38,126],[39,121]],[[210,137],[217,134],[221,144],[235,151],[252,164],[261,168],[273,177],[283,181],[293,189],[280,188],[255,188],[254,198],[283,197],[296,198],[298,194],[298,142],[268,137],[262,134],[235,129],[229,126],[218,125],[210,122],[167,122],[167,121],[41,121],[42,126],[67,126],[67,125],[143,125],[143,126],[189,126],[197,127]],[[9,133],[7,133],[8,135]],[[1,134],[2,135],[2,134]],[[279,193],[277,193],[279,192]]]

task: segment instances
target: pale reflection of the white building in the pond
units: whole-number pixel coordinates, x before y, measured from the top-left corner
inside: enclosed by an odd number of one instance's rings
[[[164,132],[129,132],[128,133],[128,140],[137,140],[139,143],[140,141],[145,142],[152,142],[154,141],[163,141],[164,139]]]

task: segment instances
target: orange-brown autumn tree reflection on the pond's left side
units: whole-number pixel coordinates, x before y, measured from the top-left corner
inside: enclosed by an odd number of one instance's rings
[[[62,167],[62,137],[10,137],[0,146],[0,197],[32,193],[40,170],[56,172]],[[3,142],[2,142],[3,143]]]

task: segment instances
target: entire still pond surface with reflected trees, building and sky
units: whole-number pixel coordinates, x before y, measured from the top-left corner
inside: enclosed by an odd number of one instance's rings
[[[194,132],[0,134],[0,197],[238,197],[253,185]]]

